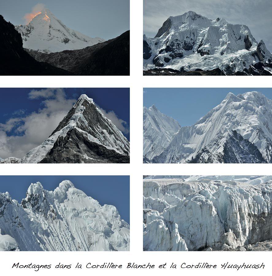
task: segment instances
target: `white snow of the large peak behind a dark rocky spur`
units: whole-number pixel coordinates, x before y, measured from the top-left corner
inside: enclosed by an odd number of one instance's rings
[[[261,152],[267,163],[272,158],[272,100],[257,91],[226,98],[210,110],[198,122],[178,130],[167,148],[157,156],[155,163],[185,163],[194,158],[206,146],[216,155],[222,153],[223,145],[231,131],[249,140]],[[148,131],[151,131],[148,129]],[[145,133],[144,133],[145,136]],[[149,146],[152,148],[152,146]],[[144,140],[144,148],[146,148]],[[205,153],[203,155],[205,159]],[[239,156],[237,156],[239,159]]]

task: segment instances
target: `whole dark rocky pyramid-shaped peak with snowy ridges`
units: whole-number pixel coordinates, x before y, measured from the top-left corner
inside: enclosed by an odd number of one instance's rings
[[[129,163],[129,142],[82,94],[48,139],[23,158],[1,163]]]

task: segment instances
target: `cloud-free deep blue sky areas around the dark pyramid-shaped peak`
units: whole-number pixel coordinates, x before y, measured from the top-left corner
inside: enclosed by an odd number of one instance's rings
[[[43,90],[44,88],[0,88],[0,123],[5,123],[12,117],[18,117],[18,110],[25,112],[25,117],[33,111],[43,108],[44,99],[29,99],[31,90]],[[95,104],[107,112],[113,110],[119,118],[128,123],[129,128],[129,89],[128,88],[64,88],[67,99],[78,99],[81,94],[92,98]],[[16,135],[9,132],[8,135]],[[129,132],[124,133],[129,140]],[[46,139],[47,137],[44,137]]]

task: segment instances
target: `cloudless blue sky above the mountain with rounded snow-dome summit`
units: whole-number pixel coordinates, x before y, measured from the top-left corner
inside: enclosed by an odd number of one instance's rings
[[[25,198],[31,183],[40,182],[52,191],[63,180],[70,180],[75,188],[96,199],[100,205],[114,205],[122,219],[129,223],[129,176],[0,176],[0,192],[9,192],[19,203]]]

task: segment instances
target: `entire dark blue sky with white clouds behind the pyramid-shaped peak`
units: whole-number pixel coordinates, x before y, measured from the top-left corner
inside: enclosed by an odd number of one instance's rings
[[[129,88],[0,88],[0,157],[21,158],[47,139],[81,94],[129,140]]]

